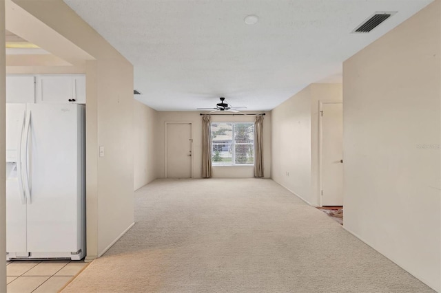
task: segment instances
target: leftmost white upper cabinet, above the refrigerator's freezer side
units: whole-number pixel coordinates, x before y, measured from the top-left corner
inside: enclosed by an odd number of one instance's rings
[[[6,102],[34,103],[34,76],[6,76]]]

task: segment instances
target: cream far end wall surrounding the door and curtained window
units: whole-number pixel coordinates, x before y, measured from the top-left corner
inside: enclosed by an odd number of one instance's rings
[[[192,122],[193,133],[193,175],[200,178],[202,174],[202,118],[201,112],[196,111],[159,111],[157,113],[156,132],[156,176],[165,177],[165,122]],[[254,121],[254,116],[212,116],[212,122],[216,121]],[[266,113],[263,120],[263,151],[265,177],[271,176],[271,115]],[[254,177],[253,167],[213,167],[212,177],[247,178]]]

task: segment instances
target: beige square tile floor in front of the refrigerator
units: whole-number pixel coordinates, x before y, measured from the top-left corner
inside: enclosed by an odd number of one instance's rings
[[[85,265],[84,261],[8,261],[8,293],[58,292]]]

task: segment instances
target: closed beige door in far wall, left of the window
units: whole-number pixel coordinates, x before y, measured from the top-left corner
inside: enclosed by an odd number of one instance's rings
[[[192,177],[192,124],[167,123],[167,178]]]

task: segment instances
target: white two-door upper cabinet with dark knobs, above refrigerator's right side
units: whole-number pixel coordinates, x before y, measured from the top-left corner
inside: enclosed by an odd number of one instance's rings
[[[37,76],[37,102],[85,104],[85,76]]]

